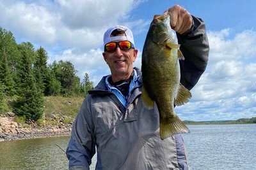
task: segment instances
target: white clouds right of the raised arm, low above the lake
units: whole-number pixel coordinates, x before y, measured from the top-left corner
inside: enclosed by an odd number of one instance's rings
[[[177,108],[182,117],[228,120],[256,116],[256,32],[243,31],[226,39],[229,33],[230,29],[209,32],[209,64],[191,91],[191,102]]]

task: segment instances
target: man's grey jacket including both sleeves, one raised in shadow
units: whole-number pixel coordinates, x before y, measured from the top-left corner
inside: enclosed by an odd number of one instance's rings
[[[180,61],[180,82],[189,90],[205,71],[209,44],[205,25],[193,17],[194,27],[177,35],[185,60]],[[181,136],[161,140],[157,106],[147,110],[141,102],[141,72],[127,98],[125,107],[102,78],[81,106],[67,148],[69,167],[89,169],[95,146],[97,170],[188,170],[188,160]]]

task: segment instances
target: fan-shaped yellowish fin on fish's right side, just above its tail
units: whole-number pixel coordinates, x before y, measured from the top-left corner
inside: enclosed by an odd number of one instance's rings
[[[188,103],[191,97],[191,92],[189,92],[189,90],[180,83],[179,91],[177,97],[175,98],[174,104],[176,106],[181,106],[182,104]]]

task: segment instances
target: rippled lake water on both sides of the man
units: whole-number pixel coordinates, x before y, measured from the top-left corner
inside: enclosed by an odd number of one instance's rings
[[[256,124],[189,125],[189,129],[191,133],[182,136],[192,170],[256,170]],[[0,142],[0,169],[68,169],[63,152],[68,139]],[[91,169],[95,169],[95,157]]]

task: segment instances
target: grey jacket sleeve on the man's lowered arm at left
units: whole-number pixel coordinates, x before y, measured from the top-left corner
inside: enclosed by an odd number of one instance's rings
[[[86,97],[72,127],[66,152],[70,170],[89,170],[95,154],[94,126],[88,103]]]

